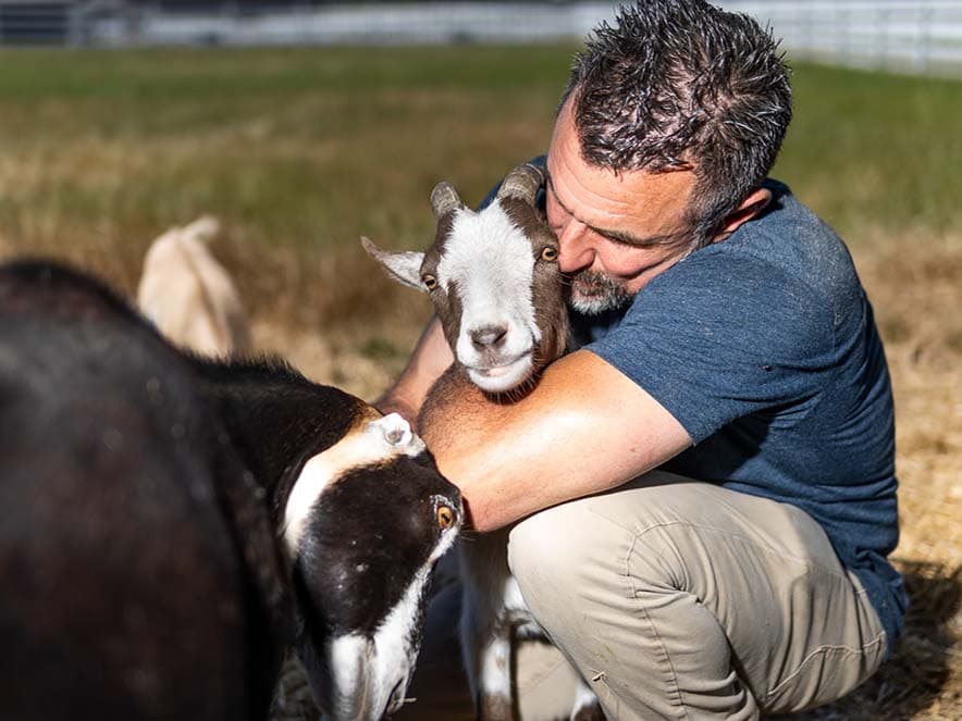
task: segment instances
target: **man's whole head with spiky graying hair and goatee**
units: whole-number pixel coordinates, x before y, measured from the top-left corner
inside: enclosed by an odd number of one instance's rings
[[[600,312],[768,200],[760,186],[791,119],[777,43],[702,0],[641,0],[576,58],[548,151],[547,213]]]

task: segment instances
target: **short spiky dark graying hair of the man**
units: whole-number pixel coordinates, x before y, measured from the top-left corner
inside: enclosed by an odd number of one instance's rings
[[[778,43],[748,15],[703,0],[639,0],[596,27],[574,98],[583,159],[616,173],[692,169],[688,216],[706,245],[775,163],[791,120]]]

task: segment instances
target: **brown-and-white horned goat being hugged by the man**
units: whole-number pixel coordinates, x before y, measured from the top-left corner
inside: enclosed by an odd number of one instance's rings
[[[505,177],[494,201],[473,212],[447,183],[431,194],[437,220],[425,252],[387,252],[365,239],[368,252],[396,279],[430,294],[456,362],[424,401],[473,383],[504,394],[532,382],[568,341],[558,244],[534,204],[544,178],[525,164]],[[478,718],[514,717],[511,634],[544,638],[507,564],[508,529],[458,546],[465,586],[461,643]],[[579,721],[603,719],[582,681],[571,710]]]

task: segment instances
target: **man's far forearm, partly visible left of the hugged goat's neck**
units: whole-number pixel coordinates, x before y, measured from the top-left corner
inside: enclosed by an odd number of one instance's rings
[[[444,338],[441,322],[434,316],[421,334],[400,377],[374,406],[385,414],[400,413],[416,426],[428,390],[453,362],[454,353]]]

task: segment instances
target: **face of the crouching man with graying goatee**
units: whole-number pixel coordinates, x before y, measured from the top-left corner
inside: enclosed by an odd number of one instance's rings
[[[688,252],[684,210],[694,173],[615,175],[588,165],[571,100],[555,123],[547,173],[547,222],[560,245],[558,264],[571,274],[577,310],[593,314],[628,302]]]

